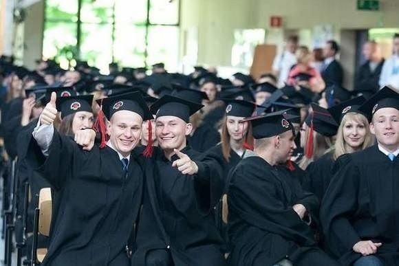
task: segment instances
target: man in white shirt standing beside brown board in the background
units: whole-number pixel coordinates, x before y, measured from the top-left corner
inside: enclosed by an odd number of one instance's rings
[[[295,52],[298,48],[298,37],[290,36],[285,42],[285,49],[274,58],[272,70],[278,78],[277,87],[283,87],[291,67],[296,64]]]

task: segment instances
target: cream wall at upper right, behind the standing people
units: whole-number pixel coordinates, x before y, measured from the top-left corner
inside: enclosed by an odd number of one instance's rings
[[[182,30],[197,27],[198,62],[230,65],[233,32],[243,28],[265,28],[267,43],[281,43],[284,30],[312,30],[330,24],[334,37],[341,30],[398,27],[399,1],[380,0],[380,11],[358,11],[356,0],[181,0]],[[272,30],[270,16],[283,16],[284,28]],[[301,35],[301,32],[299,32]],[[309,36],[308,32],[304,32]],[[309,38],[304,41],[309,43]]]

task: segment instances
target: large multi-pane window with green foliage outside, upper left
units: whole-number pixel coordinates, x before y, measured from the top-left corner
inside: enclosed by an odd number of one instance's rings
[[[177,69],[179,0],[46,0],[43,57]],[[73,63],[73,62],[72,62]]]

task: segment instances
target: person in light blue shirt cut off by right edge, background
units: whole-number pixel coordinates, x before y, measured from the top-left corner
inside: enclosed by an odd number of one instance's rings
[[[391,86],[399,91],[399,33],[393,35],[393,54],[385,60],[380,76],[380,87]]]

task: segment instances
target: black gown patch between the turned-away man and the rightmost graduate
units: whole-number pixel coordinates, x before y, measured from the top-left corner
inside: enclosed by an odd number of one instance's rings
[[[323,199],[325,191],[330,185],[334,164],[335,161],[332,158],[332,152],[330,152],[310,163],[306,168],[310,179],[310,192],[316,195],[319,201]]]

